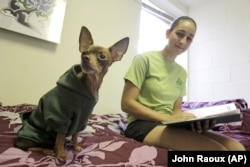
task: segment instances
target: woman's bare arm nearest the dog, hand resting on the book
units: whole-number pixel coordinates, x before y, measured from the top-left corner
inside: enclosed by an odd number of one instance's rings
[[[137,101],[139,92],[140,90],[136,86],[134,86],[130,81],[125,82],[121,100],[122,111],[133,115],[138,119],[158,122],[188,119],[190,117],[193,118],[193,115],[183,112],[174,115],[156,112],[155,110],[152,110]],[[176,102],[175,110],[181,107],[179,106],[179,103],[181,102]]]

